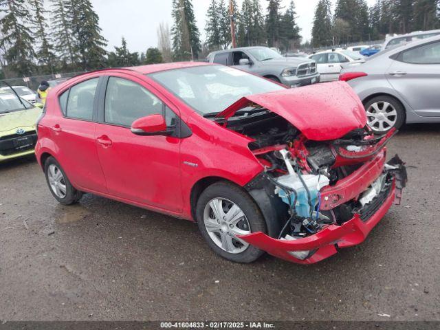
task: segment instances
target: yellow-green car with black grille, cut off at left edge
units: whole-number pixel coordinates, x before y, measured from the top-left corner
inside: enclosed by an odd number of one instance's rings
[[[16,94],[0,91],[0,162],[34,153],[41,112]]]

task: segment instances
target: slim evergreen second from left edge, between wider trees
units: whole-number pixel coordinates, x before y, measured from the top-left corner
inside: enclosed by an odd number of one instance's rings
[[[54,47],[49,39],[50,29],[45,21],[47,11],[44,9],[43,0],[29,0],[30,10],[32,11],[32,30],[34,39],[39,43],[39,50],[36,52],[39,64],[43,65],[46,70],[43,73],[54,73],[55,54]]]

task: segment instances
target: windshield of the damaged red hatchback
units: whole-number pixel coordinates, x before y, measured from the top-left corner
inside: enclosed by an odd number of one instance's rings
[[[149,75],[201,115],[219,113],[243,96],[284,89],[269,80],[223,65],[202,65]]]

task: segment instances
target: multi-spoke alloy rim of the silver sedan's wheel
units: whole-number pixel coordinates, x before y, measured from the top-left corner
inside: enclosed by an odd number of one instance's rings
[[[373,131],[384,132],[391,129],[397,122],[397,111],[393,104],[375,102],[366,109],[367,123]]]

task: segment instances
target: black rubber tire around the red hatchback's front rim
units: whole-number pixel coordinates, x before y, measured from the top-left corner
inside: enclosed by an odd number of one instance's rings
[[[206,240],[210,248],[212,248],[212,250],[214,250],[214,252],[220,256],[223,256],[223,258],[236,263],[252,263],[253,261],[256,261],[256,259],[259,259],[264,252],[252,245],[249,245],[248,248],[246,248],[243,252],[233,254],[223,250],[222,248],[219,248],[219,246],[212,241],[208,231],[206,230],[206,226],[203,221],[203,214],[205,207],[212,199],[215,198],[228,199],[232,203],[235,203],[236,206],[241,208],[250,225],[250,232],[267,232],[267,226],[263,215],[250,195],[248,195],[248,193],[239,186],[235,186],[234,184],[230,184],[226,181],[220,181],[208,186],[208,188],[203,190],[199,200],[197,201],[195,212],[201,235]]]

